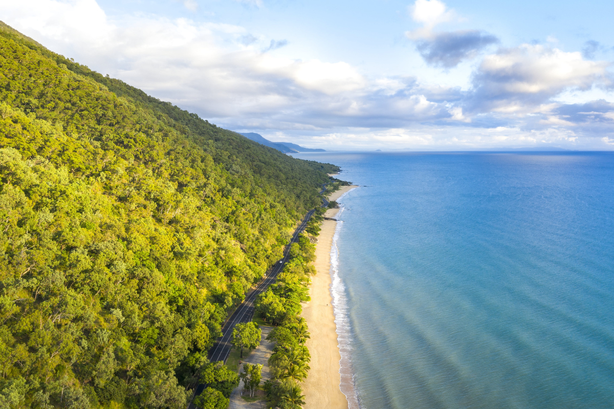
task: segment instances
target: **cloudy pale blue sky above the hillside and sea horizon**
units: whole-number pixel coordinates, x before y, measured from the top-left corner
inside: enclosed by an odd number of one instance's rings
[[[0,0],[50,50],[327,150],[614,150],[612,1]]]

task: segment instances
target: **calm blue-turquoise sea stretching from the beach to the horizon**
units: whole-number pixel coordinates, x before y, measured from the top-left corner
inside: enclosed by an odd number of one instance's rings
[[[303,153],[352,408],[613,408],[613,153]]]

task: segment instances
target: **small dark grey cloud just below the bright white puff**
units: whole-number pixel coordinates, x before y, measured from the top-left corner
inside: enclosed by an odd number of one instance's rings
[[[475,57],[480,50],[497,42],[499,39],[492,34],[463,30],[422,37],[417,40],[416,49],[428,64],[451,68],[464,59]]]

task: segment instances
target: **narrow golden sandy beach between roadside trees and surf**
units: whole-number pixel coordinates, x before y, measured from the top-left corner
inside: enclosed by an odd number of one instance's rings
[[[335,201],[342,194],[357,186],[344,186],[328,197]],[[337,209],[329,209],[326,217],[332,218]],[[335,234],[336,221],[324,220],[322,230],[316,245],[316,271],[312,278],[309,293],[311,301],[303,305],[303,317],[306,319],[311,332],[307,340],[307,347],[311,353],[311,370],[303,383],[306,409],[347,409],[348,400],[339,384],[339,361],[341,355],[337,341],[335,315],[330,296],[330,248]]]

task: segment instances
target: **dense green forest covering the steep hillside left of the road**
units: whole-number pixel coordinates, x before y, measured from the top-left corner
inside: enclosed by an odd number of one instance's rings
[[[6,25],[0,50],[0,408],[184,408],[203,377],[225,391],[206,361],[220,325],[338,167]]]

